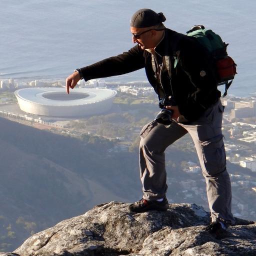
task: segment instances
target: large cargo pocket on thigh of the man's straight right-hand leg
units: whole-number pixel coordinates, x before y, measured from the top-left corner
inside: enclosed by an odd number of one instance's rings
[[[212,175],[225,170],[226,154],[223,135],[220,134],[200,143],[205,171]]]

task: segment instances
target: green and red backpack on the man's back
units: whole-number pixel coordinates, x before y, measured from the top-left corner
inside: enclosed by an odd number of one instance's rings
[[[193,26],[186,34],[196,38],[207,49],[215,66],[217,85],[225,84],[225,91],[222,95],[225,96],[236,74],[236,64],[226,52],[228,43],[223,42],[218,34],[215,34],[211,29],[205,29],[203,25]]]

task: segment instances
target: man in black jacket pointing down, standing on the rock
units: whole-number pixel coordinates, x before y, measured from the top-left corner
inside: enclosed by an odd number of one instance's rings
[[[164,150],[187,132],[191,135],[206,181],[212,233],[234,223],[231,186],[226,171],[221,122],[223,106],[207,53],[189,36],[164,27],[165,17],[139,9],[130,20],[136,46],[114,57],[76,69],[66,90],[79,79],[106,77],[145,68],[162,108],[140,132],[139,163],[143,198],[129,206],[134,212],[166,210]]]

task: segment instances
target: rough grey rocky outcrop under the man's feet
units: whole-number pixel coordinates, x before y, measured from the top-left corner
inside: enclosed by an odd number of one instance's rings
[[[164,212],[129,212],[127,203],[97,205],[29,237],[20,256],[256,255],[256,225],[236,219],[226,237],[204,230],[209,213],[195,204],[169,204]],[[1,255],[1,254],[0,254]],[[1,256],[16,255],[2,254]]]

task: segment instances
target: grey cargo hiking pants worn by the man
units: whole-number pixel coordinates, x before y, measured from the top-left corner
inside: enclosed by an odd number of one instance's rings
[[[165,196],[167,184],[164,150],[188,132],[193,139],[206,181],[212,221],[234,223],[231,213],[231,184],[226,170],[221,133],[223,109],[218,100],[196,121],[164,125],[153,120],[142,128],[139,163],[144,199],[156,200]]]

